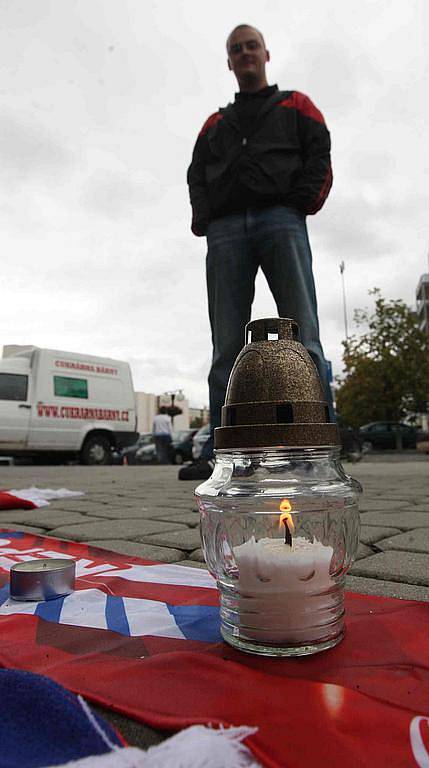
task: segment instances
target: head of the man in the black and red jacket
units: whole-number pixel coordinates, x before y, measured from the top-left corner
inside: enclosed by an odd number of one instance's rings
[[[228,67],[238,82],[265,78],[270,54],[259,32],[253,27],[236,30],[228,39]]]

